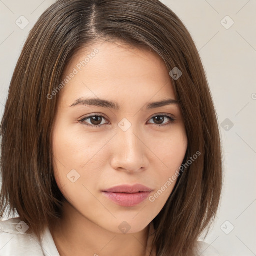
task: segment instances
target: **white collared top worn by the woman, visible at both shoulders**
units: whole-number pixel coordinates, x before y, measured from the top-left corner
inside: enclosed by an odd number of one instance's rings
[[[60,256],[48,227],[41,241],[27,227],[19,217],[0,220],[0,256]],[[200,256],[220,256],[205,242],[198,241],[198,248]]]

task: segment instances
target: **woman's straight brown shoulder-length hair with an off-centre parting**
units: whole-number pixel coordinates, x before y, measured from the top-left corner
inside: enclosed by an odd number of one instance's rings
[[[66,199],[53,175],[51,132],[65,66],[97,40],[122,41],[155,52],[168,71],[184,118],[188,145],[183,163],[200,152],[152,220],[157,255],[192,256],[214,220],[222,187],[219,127],[205,72],[181,20],[158,0],[58,0],[37,20],[11,78],[0,126],[0,218],[17,212],[40,237],[60,218]]]

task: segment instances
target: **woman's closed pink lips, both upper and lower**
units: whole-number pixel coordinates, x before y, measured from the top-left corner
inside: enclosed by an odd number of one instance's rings
[[[135,184],[133,186],[121,185],[105,189],[102,194],[118,205],[131,207],[144,201],[151,191],[152,189],[149,187]]]

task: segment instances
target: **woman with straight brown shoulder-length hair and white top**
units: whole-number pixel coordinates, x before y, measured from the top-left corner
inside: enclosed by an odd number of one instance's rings
[[[0,255],[218,255],[221,147],[187,29],[157,0],[58,0],[1,123]],[[7,205],[9,208],[7,208]]]

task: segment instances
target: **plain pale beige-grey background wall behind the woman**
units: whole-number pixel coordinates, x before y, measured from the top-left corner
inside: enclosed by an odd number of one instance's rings
[[[28,32],[53,2],[0,0],[0,120]],[[256,0],[162,2],[181,18],[196,43],[218,114],[224,190],[205,241],[223,256],[256,255]]]

